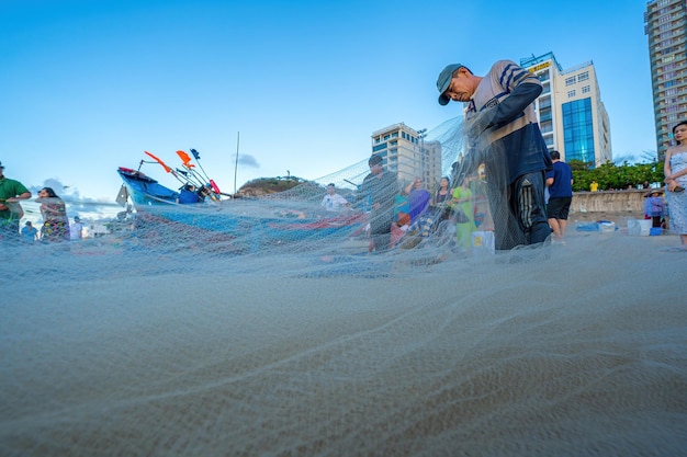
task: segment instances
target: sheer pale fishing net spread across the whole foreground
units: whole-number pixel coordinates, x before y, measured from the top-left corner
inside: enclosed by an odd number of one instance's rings
[[[461,129],[427,140],[472,199],[391,249],[370,252],[367,160],[221,203],[67,199],[86,238],[3,244],[0,455],[683,454],[677,237],[495,253]]]

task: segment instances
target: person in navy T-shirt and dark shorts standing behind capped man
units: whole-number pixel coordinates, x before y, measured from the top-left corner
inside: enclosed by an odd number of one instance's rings
[[[549,204],[547,217],[553,230],[554,241],[561,242],[567,230],[567,214],[573,203],[573,170],[561,160],[559,151],[551,151],[553,170],[547,172],[547,188],[549,188]]]

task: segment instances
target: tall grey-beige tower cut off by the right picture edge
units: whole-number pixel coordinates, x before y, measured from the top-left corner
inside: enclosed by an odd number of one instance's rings
[[[673,126],[687,113],[687,1],[652,0],[644,12],[649,37],[658,161],[673,142]]]

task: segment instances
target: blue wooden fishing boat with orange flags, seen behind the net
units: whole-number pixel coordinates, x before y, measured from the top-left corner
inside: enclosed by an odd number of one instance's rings
[[[164,230],[165,235],[187,239],[232,241],[240,244],[240,250],[256,252],[266,244],[299,242],[299,249],[303,249],[303,241],[353,237],[363,232],[368,221],[364,212],[325,212],[319,205],[322,194],[312,197],[300,194],[297,198],[293,195],[222,198],[226,194],[218,192],[214,182],[203,184],[210,195],[200,203],[180,204],[183,182],[180,190],[174,191],[143,173],[140,168],[120,167],[117,173],[123,181],[117,202],[133,203],[137,228],[144,232],[159,235]],[[177,176],[183,181],[183,175],[177,173]],[[191,183],[200,184],[198,180],[196,173]]]

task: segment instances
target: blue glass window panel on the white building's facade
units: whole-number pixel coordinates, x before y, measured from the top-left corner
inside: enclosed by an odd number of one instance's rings
[[[594,164],[596,155],[594,149],[592,99],[587,98],[564,103],[562,111],[565,160],[579,160]]]

